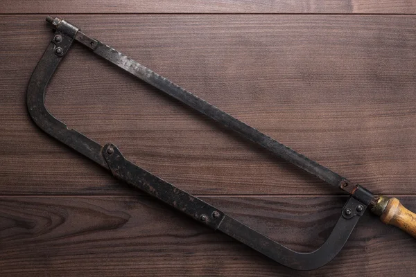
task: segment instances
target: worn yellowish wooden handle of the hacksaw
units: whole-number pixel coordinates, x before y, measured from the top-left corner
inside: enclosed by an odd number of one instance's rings
[[[388,200],[387,205],[380,215],[381,222],[399,227],[401,230],[416,238],[416,214],[409,211],[399,202],[397,198],[384,197],[377,204],[383,205]],[[377,205],[376,204],[376,205]]]

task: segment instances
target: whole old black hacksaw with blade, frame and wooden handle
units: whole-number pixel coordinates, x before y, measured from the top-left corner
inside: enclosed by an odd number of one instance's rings
[[[53,17],[47,17],[46,21],[51,24],[55,34],[33,71],[28,84],[27,106],[29,114],[44,132],[73,150],[80,152],[103,168],[110,170],[114,177],[143,190],[211,229],[221,231],[248,245],[281,265],[293,269],[316,269],[331,261],[342,249],[356,223],[367,209],[379,216],[382,222],[398,226],[416,238],[416,215],[404,208],[398,199],[374,195],[363,186],[349,181],[316,161],[246,125],[225,111],[135,62],[130,57],[114,50],[114,48],[85,35],[78,27],[68,21]],[[169,184],[135,165],[135,163],[128,161],[116,145],[112,143],[100,145],[75,129],[69,129],[67,125],[49,113],[44,105],[44,97],[49,80],[73,42],[86,46],[96,55],[128,71],[185,105],[196,109],[196,111],[205,114],[205,116],[216,120],[224,127],[232,129],[245,139],[261,145],[261,147],[282,159],[348,193],[350,197],[340,212],[340,218],[327,240],[319,249],[309,253],[288,249],[266,235],[235,220],[230,215],[220,211],[219,208],[198,199],[198,197]]]

